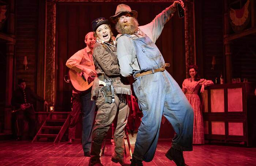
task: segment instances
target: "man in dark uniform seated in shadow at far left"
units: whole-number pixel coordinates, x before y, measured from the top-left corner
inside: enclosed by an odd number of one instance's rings
[[[16,140],[20,140],[22,137],[25,118],[29,122],[29,138],[32,139],[35,136],[35,112],[32,104],[36,100],[44,102],[44,105],[48,105],[48,103],[37,96],[30,88],[26,88],[26,81],[24,79],[18,80],[18,86],[19,88],[14,91],[11,100],[11,105],[16,110],[14,113],[17,123]]]

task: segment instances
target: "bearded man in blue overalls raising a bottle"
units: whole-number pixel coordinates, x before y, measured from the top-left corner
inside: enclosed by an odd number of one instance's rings
[[[110,17],[121,34],[117,36],[117,57],[120,73],[133,76],[133,89],[143,112],[142,122],[132,155],[132,166],[142,166],[142,161],[152,161],[157,148],[162,115],[172,124],[176,135],[172,146],[165,154],[176,165],[185,165],[183,151],[192,151],[193,109],[177,82],[165,70],[165,63],[155,42],[161,35],[164,24],[176,11],[174,3],[163,10],[155,19],[138,26],[138,13],[128,5],[117,6]]]

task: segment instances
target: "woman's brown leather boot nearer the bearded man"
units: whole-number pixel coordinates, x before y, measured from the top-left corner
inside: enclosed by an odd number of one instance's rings
[[[124,157],[124,138],[114,139],[114,151],[112,153],[111,161],[114,163],[120,163],[122,166],[129,166],[131,163],[125,161]]]

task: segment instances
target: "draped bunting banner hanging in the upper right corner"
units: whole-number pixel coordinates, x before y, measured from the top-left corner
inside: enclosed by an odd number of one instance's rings
[[[229,22],[234,32],[242,31],[251,20],[251,5],[247,0],[241,9],[229,9]]]

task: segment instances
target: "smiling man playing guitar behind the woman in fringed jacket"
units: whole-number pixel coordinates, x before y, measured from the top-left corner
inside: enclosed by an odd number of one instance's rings
[[[94,62],[93,62],[93,46],[95,44],[95,37],[93,32],[86,34],[84,43],[86,47],[79,50],[72,55],[66,63],[66,66],[70,68],[69,78],[71,80],[73,90],[78,92],[80,95],[80,101],[82,104],[82,146],[84,156],[90,156],[91,150],[91,131],[93,129],[95,102],[91,101],[91,86],[92,77],[96,76]],[[76,79],[74,79],[76,78]],[[78,119],[75,116],[79,116],[79,113],[75,113],[74,110],[71,112],[72,119]],[[71,119],[71,121],[72,121]],[[76,124],[74,122],[74,124]],[[72,123],[71,123],[72,125]],[[69,127],[69,128],[72,128]],[[73,127],[74,128],[74,127]],[[72,139],[69,139],[69,143],[72,143]]]

